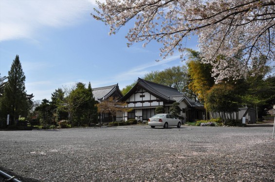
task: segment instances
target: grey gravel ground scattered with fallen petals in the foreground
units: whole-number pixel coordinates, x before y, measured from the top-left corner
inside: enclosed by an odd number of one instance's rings
[[[272,132],[193,126],[1,131],[0,170],[22,182],[275,182]]]

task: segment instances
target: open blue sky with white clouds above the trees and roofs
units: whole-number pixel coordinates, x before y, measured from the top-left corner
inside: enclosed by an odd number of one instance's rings
[[[160,59],[160,44],[127,47],[130,25],[109,36],[109,27],[91,17],[95,0],[0,0],[0,76],[19,55],[27,94],[51,99],[57,88],[82,82],[120,89],[153,70],[185,63],[179,54]],[[198,49],[197,39],[186,47]]]

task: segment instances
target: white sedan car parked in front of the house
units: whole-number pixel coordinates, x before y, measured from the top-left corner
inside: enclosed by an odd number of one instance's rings
[[[164,128],[177,126],[181,128],[182,121],[171,114],[157,114],[149,118],[148,125],[151,126],[151,128],[155,128],[155,126],[163,126]]]

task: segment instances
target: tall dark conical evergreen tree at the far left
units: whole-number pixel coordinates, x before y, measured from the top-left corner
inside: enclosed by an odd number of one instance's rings
[[[26,117],[28,114],[30,104],[26,97],[25,79],[19,56],[16,55],[8,72],[8,82],[4,85],[3,97],[0,102],[2,115],[9,114],[13,121],[20,115]]]

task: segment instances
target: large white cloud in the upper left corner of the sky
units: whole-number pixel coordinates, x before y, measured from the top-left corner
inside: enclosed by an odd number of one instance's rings
[[[90,18],[95,0],[0,0],[0,41],[33,38],[44,27]]]

